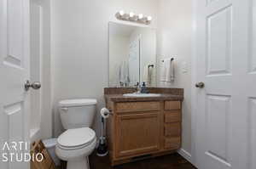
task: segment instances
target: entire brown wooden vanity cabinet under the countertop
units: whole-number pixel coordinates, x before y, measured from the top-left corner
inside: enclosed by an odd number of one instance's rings
[[[107,138],[112,166],[173,153],[181,145],[181,102],[107,103],[112,115]]]

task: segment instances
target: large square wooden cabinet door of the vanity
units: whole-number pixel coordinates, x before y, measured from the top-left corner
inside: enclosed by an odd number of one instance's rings
[[[117,157],[145,155],[159,149],[160,112],[117,115]]]

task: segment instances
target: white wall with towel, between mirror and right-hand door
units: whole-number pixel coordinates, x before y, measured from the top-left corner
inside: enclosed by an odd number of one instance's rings
[[[158,10],[158,63],[174,57],[176,64],[175,82],[160,87],[184,88],[182,148],[191,154],[192,1],[160,0]]]

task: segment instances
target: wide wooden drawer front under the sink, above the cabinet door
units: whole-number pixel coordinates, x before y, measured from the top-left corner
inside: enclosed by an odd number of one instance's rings
[[[117,103],[117,112],[137,112],[160,110],[160,102],[125,102]]]

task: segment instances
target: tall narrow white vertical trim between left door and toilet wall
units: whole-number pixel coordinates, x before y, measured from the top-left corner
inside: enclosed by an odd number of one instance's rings
[[[52,107],[53,107],[53,96],[52,88],[53,85],[53,59],[51,58],[51,34],[52,30],[50,28],[51,20],[51,1],[50,0],[30,0],[30,3],[36,3],[42,8],[42,39],[41,39],[41,121],[40,121],[40,137],[41,138],[51,138],[54,132],[54,117],[52,116]],[[44,121],[44,122],[42,122]]]

